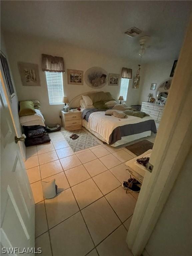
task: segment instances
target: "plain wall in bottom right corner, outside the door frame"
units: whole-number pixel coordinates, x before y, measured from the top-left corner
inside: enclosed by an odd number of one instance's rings
[[[192,150],[146,245],[150,256],[192,255],[191,162]]]

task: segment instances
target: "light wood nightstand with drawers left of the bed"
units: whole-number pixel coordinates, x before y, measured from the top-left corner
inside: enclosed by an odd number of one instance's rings
[[[82,128],[81,111],[64,112],[61,110],[61,118],[63,127],[66,130],[78,130]]]

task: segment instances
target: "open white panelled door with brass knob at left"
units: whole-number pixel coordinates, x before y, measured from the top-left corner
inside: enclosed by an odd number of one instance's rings
[[[2,76],[1,76],[2,78]],[[35,246],[35,204],[1,79],[1,250]],[[2,254],[2,251],[0,253]],[[7,255],[7,254],[6,254]],[[15,252],[10,255],[19,255]],[[23,255],[33,255],[24,253]]]

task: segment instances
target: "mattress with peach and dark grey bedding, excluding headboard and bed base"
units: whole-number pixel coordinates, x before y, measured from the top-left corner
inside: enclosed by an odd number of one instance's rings
[[[128,116],[123,119],[105,115],[105,111],[84,110],[82,117],[88,121],[88,130],[93,134],[94,132],[99,134],[103,141],[110,145],[115,144],[122,137],[136,135],[138,139],[138,134],[149,132],[148,136],[151,131],[156,133],[155,122],[150,116],[144,118]]]

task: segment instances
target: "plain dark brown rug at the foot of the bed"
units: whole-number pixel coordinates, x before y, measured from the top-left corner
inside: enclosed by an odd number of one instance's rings
[[[153,143],[148,140],[142,140],[135,144],[126,146],[128,150],[130,150],[135,155],[139,156],[143,153],[145,153],[147,150],[153,148]]]

